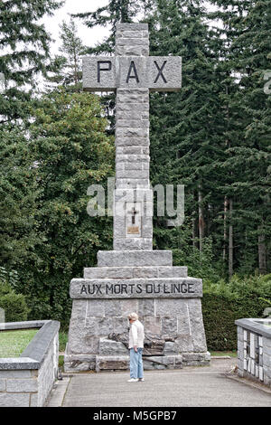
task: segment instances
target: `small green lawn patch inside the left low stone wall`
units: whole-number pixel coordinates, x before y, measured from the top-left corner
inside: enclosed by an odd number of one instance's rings
[[[39,328],[0,331],[0,357],[20,357]]]

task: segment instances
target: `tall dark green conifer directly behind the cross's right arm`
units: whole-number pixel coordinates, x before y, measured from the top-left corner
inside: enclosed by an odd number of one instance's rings
[[[216,188],[220,173],[216,164],[223,156],[221,77],[205,18],[199,1],[159,0],[149,20],[152,54],[182,56],[182,90],[152,95],[152,183],[185,184],[184,226],[190,226],[192,216],[196,239],[192,246],[199,241],[201,250],[208,227],[212,231],[208,205],[215,204],[218,196],[222,199]],[[163,239],[168,241],[165,233],[174,231],[164,231]],[[160,238],[161,231],[158,244],[163,246]]]

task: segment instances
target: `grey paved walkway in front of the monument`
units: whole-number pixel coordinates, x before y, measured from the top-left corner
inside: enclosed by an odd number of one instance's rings
[[[236,359],[210,366],[145,371],[145,382],[128,372],[65,374],[51,392],[50,407],[271,407],[271,390],[229,373]]]

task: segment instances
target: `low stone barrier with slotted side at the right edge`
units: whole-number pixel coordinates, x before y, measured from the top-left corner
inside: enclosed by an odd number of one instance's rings
[[[242,318],[238,326],[238,375],[271,387],[271,319]]]

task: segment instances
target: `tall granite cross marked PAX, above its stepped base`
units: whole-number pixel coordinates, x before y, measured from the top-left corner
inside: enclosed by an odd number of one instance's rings
[[[147,24],[117,24],[116,56],[83,58],[84,90],[117,91],[114,250],[153,249],[153,217],[146,213],[153,211],[149,91],[176,91],[182,85],[181,57],[148,54]],[[122,213],[127,204],[141,213],[136,231]]]

